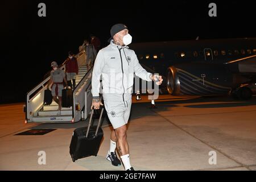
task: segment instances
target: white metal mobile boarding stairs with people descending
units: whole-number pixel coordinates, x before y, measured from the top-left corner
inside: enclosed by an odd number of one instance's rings
[[[92,104],[92,68],[89,67],[88,70],[86,68],[84,51],[79,52],[75,57],[79,64],[79,73],[76,76],[76,88],[72,90],[72,106],[62,107],[61,114],[57,115],[59,106],[55,101],[52,101],[51,105],[44,105],[44,90],[47,89],[49,76],[27,93],[27,101],[26,105],[24,105],[24,111],[26,112],[25,123],[72,123],[88,117],[90,105]],[[66,61],[59,67],[64,71]]]

